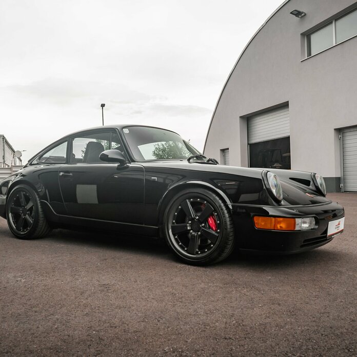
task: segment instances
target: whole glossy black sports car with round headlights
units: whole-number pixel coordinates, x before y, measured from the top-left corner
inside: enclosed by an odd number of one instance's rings
[[[240,249],[294,253],[343,231],[344,209],[310,172],[218,165],[178,134],[117,125],[75,132],[0,182],[0,215],[21,239],[85,226],[165,237],[203,265]]]

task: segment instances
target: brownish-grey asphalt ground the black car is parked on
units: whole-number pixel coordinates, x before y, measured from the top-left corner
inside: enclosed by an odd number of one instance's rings
[[[0,355],[357,356],[357,194],[329,197],[346,221],[326,246],[204,268],[142,237],[21,241],[0,219]]]

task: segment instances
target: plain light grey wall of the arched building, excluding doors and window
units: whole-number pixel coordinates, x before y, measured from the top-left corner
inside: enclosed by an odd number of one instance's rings
[[[357,37],[302,61],[302,34],[351,0],[290,0],[255,35],[226,83],[204,153],[247,166],[246,117],[289,104],[291,169],[340,176],[339,128],[357,125]],[[289,12],[299,9],[306,16]]]

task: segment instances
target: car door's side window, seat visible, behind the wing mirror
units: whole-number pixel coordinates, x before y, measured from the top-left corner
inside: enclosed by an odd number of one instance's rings
[[[117,135],[112,132],[97,132],[73,138],[71,163],[101,163],[100,154],[109,149],[123,150]]]

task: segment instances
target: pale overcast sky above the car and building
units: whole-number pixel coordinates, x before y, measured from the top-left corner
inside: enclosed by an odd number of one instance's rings
[[[200,151],[235,61],[282,0],[1,0],[0,133],[23,161],[70,132],[145,124]]]

